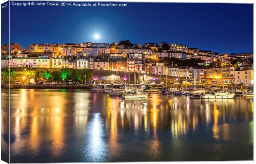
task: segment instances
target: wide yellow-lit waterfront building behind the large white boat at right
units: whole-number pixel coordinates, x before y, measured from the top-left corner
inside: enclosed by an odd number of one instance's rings
[[[206,69],[205,78],[202,79],[202,83],[208,85],[222,85],[224,81],[225,85],[234,83],[234,67],[214,67]]]

